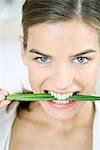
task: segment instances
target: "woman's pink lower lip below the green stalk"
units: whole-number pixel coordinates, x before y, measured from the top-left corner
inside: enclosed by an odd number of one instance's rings
[[[66,103],[66,104],[57,104],[57,103],[54,103],[52,101],[48,101],[47,103],[52,108],[69,109],[69,108],[73,107],[76,104],[76,101],[72,101],[72,102],[69,102],[69,103]]]

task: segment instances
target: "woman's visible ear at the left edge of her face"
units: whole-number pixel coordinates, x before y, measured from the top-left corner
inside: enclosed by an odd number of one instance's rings
[[[21,57],[22,57],[23,63],[27,65],[26,49],[24,48],[24,37],[19,36],[19,41],[21,45]]]

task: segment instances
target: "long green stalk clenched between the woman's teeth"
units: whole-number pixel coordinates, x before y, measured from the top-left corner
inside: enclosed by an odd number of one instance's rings
[[[58,100],[50,94],[12,94],[5,97],[6,100],[10,101],[49,101],[49,100]],[[76,100],[76,101],[96,101],[100,100],[99,96],[90,96],[90,95],[77,95],[70,96],[67,100]],[[59,100],[58,100],[59,101]]]

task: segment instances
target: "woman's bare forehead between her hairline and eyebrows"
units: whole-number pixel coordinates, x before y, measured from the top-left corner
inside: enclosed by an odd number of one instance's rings
[[[96,46],[98,36],[94,29],[79,20],[63,23],[43,23],[29,28],[28,44],[37,48],[79,49]],[[83,49],[83,47],[82,47]]]

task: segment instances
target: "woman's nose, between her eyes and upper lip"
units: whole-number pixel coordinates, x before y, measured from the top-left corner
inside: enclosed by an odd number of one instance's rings
[[[58,69],[56,68],[53,76],[53,86],[57,90],[67,89],[72,85],[74,80],[74,71],[73,69],[65,66],[61,66]]]

